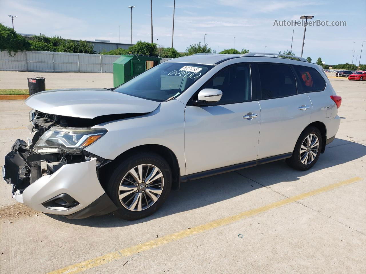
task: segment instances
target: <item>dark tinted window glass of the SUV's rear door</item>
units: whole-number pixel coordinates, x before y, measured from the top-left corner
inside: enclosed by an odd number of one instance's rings
[[[295,75],[289,65],[258,64],[262,99],[290,96],[297,93]]]

